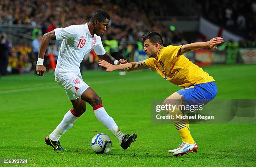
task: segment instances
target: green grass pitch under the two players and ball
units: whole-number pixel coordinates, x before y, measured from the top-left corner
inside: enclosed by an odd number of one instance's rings
[[[216,80],[216,98],[256,99],[256,65],[221,65],[204,70]],[[255,166],[256,124],[192,124],[198,152],[173,157],[167,151],[177,147],[181,139],[174,125],[151,124],[151,99],[164,99],[180,87],[150,70],[128,72],[126,76],[85,71],[82,76],[102,98],[120,129],[137,133],[136,142],[122,150],[87,104],[84,115],[60,139],[67,152],[54,152],[44,138],[72,108],[71,102],[54,81],[53,73],[45,77],[10,75],[0,78],[0,159],[27,158],[28,166],[35,167]],[[100,132],[108,134],[113,145],[109,153],[97,155],[90,142]]]

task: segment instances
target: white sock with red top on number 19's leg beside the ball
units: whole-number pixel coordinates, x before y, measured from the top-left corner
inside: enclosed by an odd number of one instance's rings
[[[119,142],[121,143],[124,134],[119,130],[118,125],[116,125],[113,118],[108,115],[104,107],[102,105],[97,105],[93,107],[93,110],[97,119],[103,125],[105,125],[105,127],[107,127],[108,130],[110,130],[110,132],[112,132],[113,135],[115,135],[115,137],[117,137]]]

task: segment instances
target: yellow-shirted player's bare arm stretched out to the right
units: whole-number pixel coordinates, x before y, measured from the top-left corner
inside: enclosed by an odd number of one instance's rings
[[[223,42],[224,42],[223,38],[215,37],[207,42],[195,42],[195,43],[186,44],[180,48],[178,55],[182,55],[182,54],[190,52],[192,50],[198,50],[201,48],[210,48],[210,49],[215,50],[215,49],[218,49],[218,47],[215,47],[215,45],[219,45]]]

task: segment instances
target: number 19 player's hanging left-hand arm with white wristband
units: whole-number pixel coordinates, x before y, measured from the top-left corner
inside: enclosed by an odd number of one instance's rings
[[[50,43],[51,40],[56,40],[55,32],[52,30],[51,32],[48,32],[44,34],[40,47],[39,47],[39,53],[38,53],[38,63],[36,65],[36,74],[38,76],[44,76],[44,73],[46,71],[46,67],[44,67],[43,62],[40,62],[41,59],[44,59],[44,54],[46,52],[46,49]],[[39,59],[40,58],[40,59]]]

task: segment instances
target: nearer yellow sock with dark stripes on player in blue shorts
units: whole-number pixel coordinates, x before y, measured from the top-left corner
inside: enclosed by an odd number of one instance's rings
[[[180,110],[175,110],[172,115],[174,115],[173,123],[176,127],[177,131],[180,134],[180,137],[182,138],[182,142],[194,144],[194,140],[190,134],[189,130],[189,122],[186,119],[176,119],[175,115],[182,115],[182,112]]]

